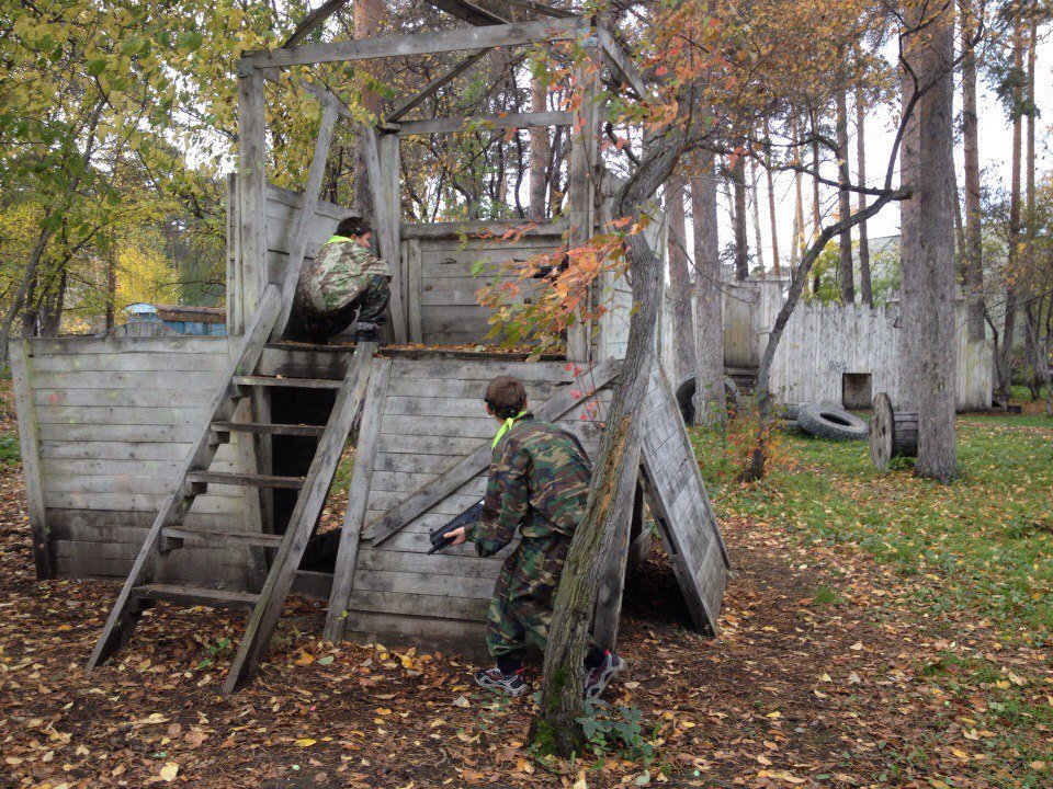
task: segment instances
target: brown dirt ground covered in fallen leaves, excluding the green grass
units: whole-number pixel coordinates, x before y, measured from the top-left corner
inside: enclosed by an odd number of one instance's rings
[[[626,591],[630,674],[609,700],[642,712],[654,762],[551,764],[524,746],[530,697],[477,691],[449,655],[321,644],[306,601],[233,698],[219,686],[242,619],[205,608],[155,608],[120,662],[88,674],[117,587],[37,581],[18,471],[0,491],[4,787],[1000,786],[973,747],[983,699],[948,695],[924,658],[964,642],[1010,676],[1043,662],[999,651],[982,622],[918,616],[907,585],[861,558],[725,523],[720,638],[688,627],[664,557]]]

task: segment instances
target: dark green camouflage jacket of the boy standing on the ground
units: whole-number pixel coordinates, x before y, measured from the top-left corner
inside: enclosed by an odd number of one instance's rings
[[[523,537],[573,535],[585,514],[592,473],[574,437],[531,413],[494,446],[483,516],[466,537],[490,556]]]

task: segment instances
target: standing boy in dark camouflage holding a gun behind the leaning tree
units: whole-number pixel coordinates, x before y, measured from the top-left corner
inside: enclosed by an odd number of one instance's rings
[[[454,545],[475,542],[478,554],[487,557],[519,530],[521,539],[501,565],[488,615],[486,645],[497,666],[475,675],[483,687],[519,696],[526,690],[528,645],[544,652],[548,641],[552,607],[570,539],[585,514],[591,470],[577,438],[528,410],[518,378],[490,381],[486,410],[503,424],[494,439],[483,515],[450,536]],[[624,667],[616,654],[592,644],[584,670],[586,697],[599,696]]]

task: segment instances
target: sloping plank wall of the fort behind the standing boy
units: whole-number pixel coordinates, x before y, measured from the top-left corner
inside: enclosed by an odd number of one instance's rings
[[[565,363],[393,359],[366,502],[366,529],[421,485],[489,443],[497,422],[487,416],[483,393],[496,375],[516,375],[541,402],[575,382]],[[601,392],[605,412],[609,392]],[[586,407],[561,423],[593,455],[601,414],[582,420]],[[500,562],[510,550],[480,559],[473,546],[427,556],[428,531],[464,511],[483,494],[485,472],[378,547],[363,540],[352,581],[348,632],[356,639],[456,641],[482,647],[486,607]],[[465,641],[468,638],[469,641]],[[385,643],[387,641],[384,641]]]

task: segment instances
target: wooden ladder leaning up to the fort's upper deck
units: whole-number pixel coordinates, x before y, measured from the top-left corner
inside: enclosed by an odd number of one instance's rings
[[[362,405],[377,347],[374,343],[360,343],[342,381],[257,375],[263,348],[276,324],[281,322],[281,294],[275,285],[269,285],[246,329],[223,388],[212,403],[212,411],[201,437],[190,451],[174,491],[165,501],[154,521],[124,588],[110,613],[88,661],[89,670],[103,663],[127,643],[143,611],[157,601],[186,606],[250,609],[245,636],[223,686],[224,693],[231,693],[241,679],[259,666],[321,512],[352,423]],[[260,386],[330,388],[337,390],[337,397],[324,428],[234,421],[238,403],[249,396],[253,387]],[[318,446],[306,477],[210,471],[216,451],[222,444],[229,441],[231,432],[241,432],[249,436],[317,436]],[[231,533],[184,526],[183,518],[194,499],[205,493],[210,484],[290,488],[298,489],[299,494],[283,535]],[[188,537],[197,540],[196,545],[204,542],[215,547],[234,545],[276,549],[260,592],[256,594],[159,583],[165,559],[171,551],[181,548]]]

